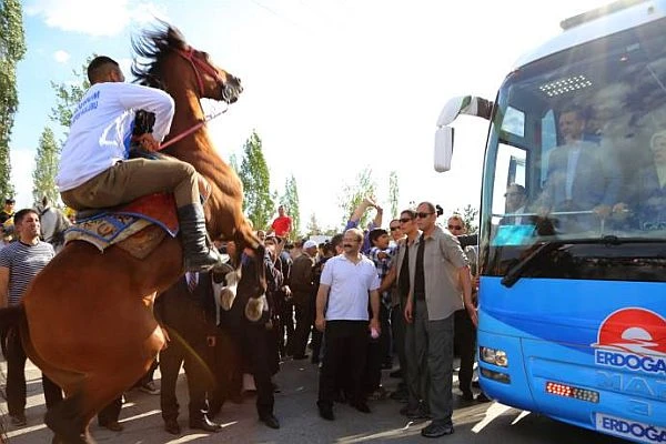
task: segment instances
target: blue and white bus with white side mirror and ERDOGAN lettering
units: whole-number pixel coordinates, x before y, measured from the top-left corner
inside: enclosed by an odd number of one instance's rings
[[[503,404],[666,443],[666,1],[562,22],[494,101],[482,184],[478,366]]]

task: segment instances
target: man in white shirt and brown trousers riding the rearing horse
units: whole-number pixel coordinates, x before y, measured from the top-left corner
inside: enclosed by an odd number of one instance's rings
[[[164,91],[124,83],[119,64],[95,57],[88,65],[90,89],[74,110],[56,179],[62,201],[74,210],[102,209],[142,195],[173,193],[185,271],[221,262],[206,240],[205,216],[194,168],[173,158],[129,159],[130,142],[155,152],[169,133],[174,102]],[[132,139],[135,111],[154,113],[153,132]]]

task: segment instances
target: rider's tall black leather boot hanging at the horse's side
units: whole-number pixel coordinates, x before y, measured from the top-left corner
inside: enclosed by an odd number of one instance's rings
[[[206,271],[221,264],[222,258],[208,243],[203,208],[199,203],[181,206],[178,219],[185,271]]]

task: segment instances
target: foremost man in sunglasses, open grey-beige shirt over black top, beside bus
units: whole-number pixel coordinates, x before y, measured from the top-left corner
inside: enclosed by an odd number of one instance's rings
[[[425,437],[453,433],[453,320],[455,311],[463,307],[458,282],[464,306],[476,324],[467,258],[457,239],[437,226],[436,220],[437,211],[431,202],[417,206],[416,225],[422,234],[416,241],[414,266],[410,266],[411,289],[405,304],[407,405],[418,405],[420,387],[427,387],[427,394],[421,394],[427,405],[421,403],[421,408],[430,410],[433,421],[421,431]]]

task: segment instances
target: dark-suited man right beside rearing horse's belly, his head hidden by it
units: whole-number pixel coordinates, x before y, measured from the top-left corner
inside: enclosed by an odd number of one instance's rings
[[[212,392],[214,379],[208,365],[215,345],[215,313],[211,273],[188,272],[157,300],[154,313],[165,327],[169,343],[160,352],[162,384],[160,405],[167,432],[180,434],[179,404],[175,383],[182,364],[190,394],[190,428],[215,433],[222,427],[208,417],[206,393]]]

